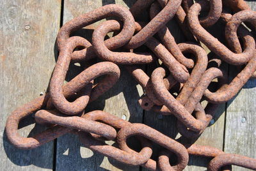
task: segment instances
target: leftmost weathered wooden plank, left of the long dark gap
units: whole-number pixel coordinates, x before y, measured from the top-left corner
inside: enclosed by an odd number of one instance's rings
[[[1,170],[52,170],[53,143],[24,151],[6,138],[8,115],[47,89],[54,67],[54,43],[60,27],[61,1],[1,1],[0,103]],[[26,119],[20,127],[31,124]],[[42,131],[31,124],[20,129],[24,137]],[[2,134],[3,133],[3,134]]]

